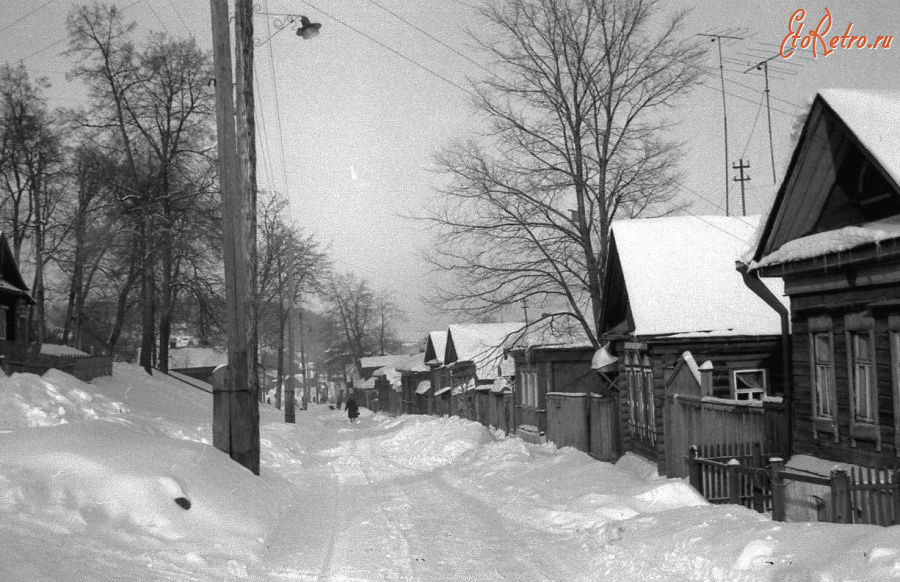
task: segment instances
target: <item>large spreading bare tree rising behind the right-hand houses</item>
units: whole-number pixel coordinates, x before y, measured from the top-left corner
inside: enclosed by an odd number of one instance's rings
[[[476,39],[495,74],[475,84],[488,129],[438,156],[426,258],[454,279],[438,307],[484,315],[531,302],[571,314],[596,343],[610,223],[673,210],[674,100],[701,46],[657,0],[507,0]],[[561,306],[561,307],[560,307]]]

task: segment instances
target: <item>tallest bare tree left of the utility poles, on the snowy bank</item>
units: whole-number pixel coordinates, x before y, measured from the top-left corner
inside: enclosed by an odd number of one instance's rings
[[[86,82],[94,100],[82,125],[106,134],[108,155],[115,153],[124,169],[119,201],[133,233],[140,363],[150,370],[158,329],[165,368],[180,286],[176,249],[185,248],[176,235],[197,230],[179,229],[178,223],[216,212],[212,198],[204,196],[208,188],[197,187],[198,175],[208,173],[206,153],[214,135],[210,57],[194,39],[162,34],[151,34],[143,49],[135,47],[134,25],[115,6],[76,7],[66,24],[68,54],[78,59],[72,74]]]

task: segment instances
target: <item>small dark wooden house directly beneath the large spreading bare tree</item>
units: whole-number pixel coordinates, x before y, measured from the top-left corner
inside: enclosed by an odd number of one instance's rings
[[[596,348],[572,318],[553,317],[528,327],[509,347],[515,361],[515,428],[526,438],[547,431],[547,394],[596,392],[591,370]]]

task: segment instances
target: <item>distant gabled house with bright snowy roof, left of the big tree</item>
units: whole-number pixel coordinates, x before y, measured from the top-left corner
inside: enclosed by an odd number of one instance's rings
[[[524,328],[524,323],[478,323],[447,329],[443,368],[449,373],[450,414],[478,419],[478,386],[489,390],[496,378],[512,376],[512,362],[504,366],[504,349]]]

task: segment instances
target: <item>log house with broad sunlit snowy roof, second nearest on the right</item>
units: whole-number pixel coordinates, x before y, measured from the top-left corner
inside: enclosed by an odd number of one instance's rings
[[[712,362],[714,397],[778,392],[781,320],[735,270],[758,222],[678,216],[613,223],[598,329],[618,358],[617,373],[601,390],[618,400],[619,454],[633,451],[665,472],[665,383],[686,350]],[[779,283],[770,283],[777,297]]]

